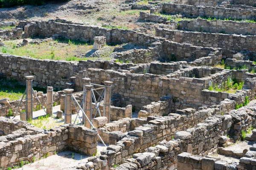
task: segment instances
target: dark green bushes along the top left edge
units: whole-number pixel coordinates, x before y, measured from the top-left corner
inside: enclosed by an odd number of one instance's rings
[[[12,6],[23,6],[23,5],[44,5],[50,0],[0,0],[0,8],[7,8]],[[67,2],[69,0],[55,0],[56,2]]]

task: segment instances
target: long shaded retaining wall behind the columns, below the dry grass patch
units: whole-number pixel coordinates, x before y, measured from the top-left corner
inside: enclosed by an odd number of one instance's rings
[[[33,86],[44,87],[52,86],[60,90],[66,88],[65,83],[70,82],[70,77],[76,76],[79,71],[87,68],[102,69],[123,69],[131,70],[136,65],[132,63],[116,63],[110,61],[73,61],[34,59],[31,57],[20,57],[10,54],[0,54],[0,73],[4,76],[17,79],[21,84],[25,84],[25,76],[33,75]]]

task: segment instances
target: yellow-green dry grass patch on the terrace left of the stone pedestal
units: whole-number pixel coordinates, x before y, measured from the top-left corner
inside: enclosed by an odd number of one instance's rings
[[[14,44],[17,44],[17,40],[5,41],[4,43],[6,46],[0,48],[1,52],[19,56],[30,56],[36,59],[62,59],[67,61],[99,59],[99,57],[83,57],[93,48],[93,42],[57,39],[53,42],[29,44],[20,48],[13,48]],[[109,60],[107,57],[104,59]]]

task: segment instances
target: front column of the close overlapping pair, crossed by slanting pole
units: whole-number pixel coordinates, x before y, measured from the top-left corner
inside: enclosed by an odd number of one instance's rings
[[[93,85],[85,85],[85,89],[86,89],[86,103],[85,103],[85,114],[88,117],[88,119],[90,119],[90,121],[92,121],[92,89],[93,89]],[[87,118],[85,118],[84,121],[84,126],[91,128],[90,122],[88,121]]]

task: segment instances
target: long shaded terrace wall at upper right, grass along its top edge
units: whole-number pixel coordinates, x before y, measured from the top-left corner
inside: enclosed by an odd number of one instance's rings
[[[204,19],[183,20],[178,23],[179,29],[184,31],[256,35],[256,23]]]

